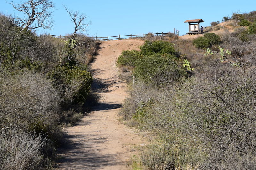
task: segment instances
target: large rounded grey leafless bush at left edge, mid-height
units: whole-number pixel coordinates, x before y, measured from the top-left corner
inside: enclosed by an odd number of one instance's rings
[[[2,77],[0,91],[0,114],[6,126],[32,130],[51,127],[58,121],[59,93],[41,75],[20,73]]]

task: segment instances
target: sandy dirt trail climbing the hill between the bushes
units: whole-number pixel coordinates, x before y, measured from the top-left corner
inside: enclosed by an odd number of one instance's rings
[[[127,160],[136,148],[147,143],[122,124],[118,110],[126,96],[126,83],[118,77],[116,60],[123,50],[138,49],[141,40],[114,40],[100,44],[91,64],[92,87],[100,94],[100,104],[92,108],[76,126],[67,128],[70,144],[62,151],[58,169],[129,169]]]

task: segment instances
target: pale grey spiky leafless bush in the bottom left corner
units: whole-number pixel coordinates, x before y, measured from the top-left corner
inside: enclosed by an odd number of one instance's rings
[[[12,130],[0,135],[0,169],[35,169],[41,161],[44,141],[35,134]]]

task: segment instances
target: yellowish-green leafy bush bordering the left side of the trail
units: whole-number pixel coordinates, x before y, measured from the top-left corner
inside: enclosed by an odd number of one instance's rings
[[[59,66],[48,74],[55,85],[62,90],[62,95],[66,100],[75,102],[85,102],[90,92],[92,75],[84,68]]]

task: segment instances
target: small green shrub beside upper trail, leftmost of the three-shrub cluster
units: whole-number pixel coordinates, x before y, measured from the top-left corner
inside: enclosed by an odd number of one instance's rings
[[[136,60],[141,58],[142,56],[142,52],[140,51],[123,51],[122,55],[118,57],[117,63],[124,66],[135,66]]]

